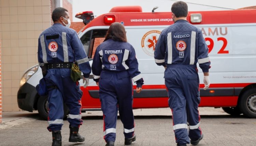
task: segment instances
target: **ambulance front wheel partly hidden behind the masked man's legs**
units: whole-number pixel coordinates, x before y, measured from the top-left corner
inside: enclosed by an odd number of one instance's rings
[[[64,108],[64,118],[69,114],[69,109],[66,104],[63,106]],[[39,115],[44,119],[47,120],[48,118],[48,102],[47,102],[47,96],[41,96],[38,99],[37,102],[37,110]]]

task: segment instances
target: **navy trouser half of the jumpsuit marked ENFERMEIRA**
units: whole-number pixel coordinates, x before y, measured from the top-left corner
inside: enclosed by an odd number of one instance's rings
[[[120,119],[124,125],[125,138],[131,138],[134,134],[131,77],[126,76],[118,79],[116,72],[101,72],[99,87],[104,120],[104,140],[106,142],[115,141],[118,110]]]

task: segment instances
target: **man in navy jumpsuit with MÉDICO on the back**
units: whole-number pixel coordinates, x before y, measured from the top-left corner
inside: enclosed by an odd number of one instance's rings
[[[186,146],[189,143],[197,145],[203,134],[199,126],[200,97],[196,63],[199,63],[203,71],[206,90],[210,86],[211,67],[208,47],[201,30],[186,20],[188,7],[185,2],[173,3],[171,11],[174,24],[161,32],[154,58],[157,65],[166,69],[165,85],[168,89],[168,104],[172,111],[177,146]]]

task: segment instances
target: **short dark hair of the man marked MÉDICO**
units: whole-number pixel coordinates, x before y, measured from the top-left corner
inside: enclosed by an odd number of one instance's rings
[[[171,11],[172,13],[174,13],[175,17],[187,17],[187,14],[188,14],[187,3],[183,1],[177,1],[172,4]]]

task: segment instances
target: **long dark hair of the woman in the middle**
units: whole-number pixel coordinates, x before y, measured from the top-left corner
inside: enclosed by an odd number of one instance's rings
[[[104,41],[110,38],[113,39],[114,41],[127,42],[125,27],[123,26],[123,24],[119,22],[114,22],[110,25]]]

